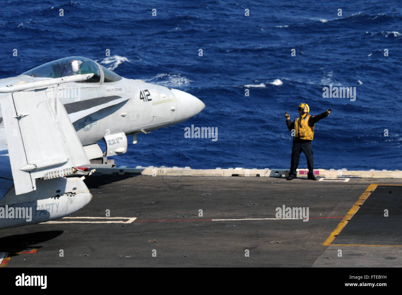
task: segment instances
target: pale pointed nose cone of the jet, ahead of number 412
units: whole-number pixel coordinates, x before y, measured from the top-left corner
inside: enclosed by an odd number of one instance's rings
[[[179,121],[187,120],[205,108],[205,104],[195,96],[177,89],[172,89],[177,102],[177,116]]]

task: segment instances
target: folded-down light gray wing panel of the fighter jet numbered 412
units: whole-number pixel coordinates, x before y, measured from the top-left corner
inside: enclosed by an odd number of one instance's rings
[[[4,145],[0,151],[0,197],[10,166],[19,195],[35,190],[35,179],[63,177],[89,164],[66,109],[57,97],[47,97],[46,88],[10,92],[0,105],[8,149],[8,157]]]

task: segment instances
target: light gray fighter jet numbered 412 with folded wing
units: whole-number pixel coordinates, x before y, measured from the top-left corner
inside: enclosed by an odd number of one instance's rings
[[[183,122],[205,105],[186,92],[123,78],[85,57],[0,79],[0,228],[47,222],[92,195],[80,167],[127,151],[127,135]],[[105,141],[105,151],[97,144]]]

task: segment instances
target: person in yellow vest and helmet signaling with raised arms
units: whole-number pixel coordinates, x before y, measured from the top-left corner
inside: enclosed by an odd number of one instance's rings
[[[310,112],[310,107],[308,104],[299,104],[300,117],[293,122],[290,121],[290,115],[285,112],[287,128],[289,128],[289,131],[292,131],[293,136],[292,157],[289,177],[287,177],[287,180],[296,178],[296,169],[299,165],[301,152],[304,152],[304,155],[306,155],[307,158],[308,179],[317,180],[313,173],[314,159],[313,150],[311,148],[311,141],[313,140],[314,136],[314,124],[316,124],[322,118],[327,117],[331,110],[332,109],[328,109],[317,116],[310,116],[308,114]]]

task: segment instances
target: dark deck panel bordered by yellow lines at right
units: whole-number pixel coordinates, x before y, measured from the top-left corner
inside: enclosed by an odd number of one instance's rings
[[[332,244],[402,245],[402,186],[377,186]]]

